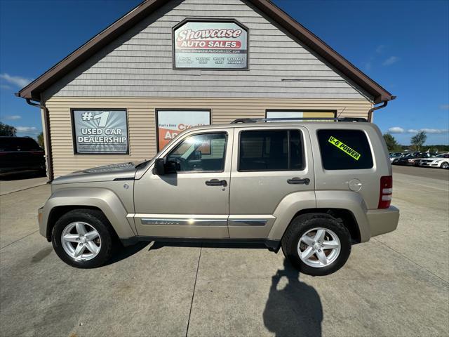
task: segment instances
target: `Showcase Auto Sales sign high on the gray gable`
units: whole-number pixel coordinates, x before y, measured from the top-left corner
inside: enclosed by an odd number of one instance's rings
[[[248,67],[248,32],[235,22],[188,21],[173,39],[176,68]]]

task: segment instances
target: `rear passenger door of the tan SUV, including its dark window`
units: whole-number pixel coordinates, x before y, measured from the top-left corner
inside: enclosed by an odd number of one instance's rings
[[[229,237],[267,238],[274,224],[274,210],[284,197],[293,192],[308,192],[307,198],[314,200],[313,159],[307,129],[236,128],[231,184]]]

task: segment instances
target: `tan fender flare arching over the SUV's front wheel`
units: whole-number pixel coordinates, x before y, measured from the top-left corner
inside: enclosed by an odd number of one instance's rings
[[[106,188],[101,187],[73,187],[58,190],[51,194],[43,207],[43,224],[45,230],[41,228],[41,234],[47,238],[48,220],[51,212],[59,206],[83,206],[95,207],[102,211],[109,223],[111,223],[119,238],[134,237],[136,235],[133,218],[128,218],[128,212],[121,203],[119,197]],[[45,232],[45,233],[43,233]]]

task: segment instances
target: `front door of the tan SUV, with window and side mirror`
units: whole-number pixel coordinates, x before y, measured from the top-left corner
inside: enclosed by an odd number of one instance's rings
[[[175,173],[152,168],[135,181],[135,225],[151,237],[227,238],[233,128],[193,131],[161,157]]]

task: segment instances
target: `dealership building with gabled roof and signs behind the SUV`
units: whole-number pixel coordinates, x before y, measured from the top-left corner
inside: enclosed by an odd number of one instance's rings
[[[80,23],[81,24],[81,23]],[[269,0],[147,0],[17,93],[50,179],[240,118],[364,117],[394,99]]]

